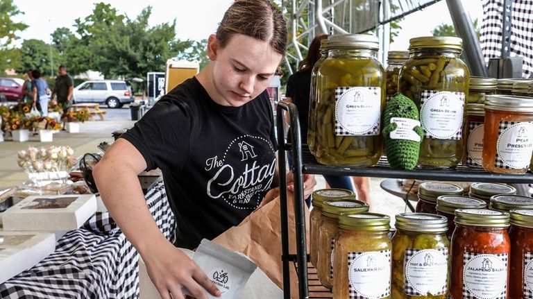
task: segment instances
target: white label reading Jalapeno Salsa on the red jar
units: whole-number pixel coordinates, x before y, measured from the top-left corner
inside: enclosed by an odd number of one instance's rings
[[[508,260],[507,253],[464,253],[463,298],[506,299]]]

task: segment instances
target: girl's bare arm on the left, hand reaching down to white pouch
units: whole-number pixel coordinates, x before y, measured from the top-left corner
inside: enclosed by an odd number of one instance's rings
[[[144,169],[146,161],[133,144],[122,138],[112,144],[93,171],[105,207],[144,259],[163,299],[185,298],[182,288],[198,299],[207,298],[203,289],[220,296],[220,291],[196,263],[159,230],[137,178]]]

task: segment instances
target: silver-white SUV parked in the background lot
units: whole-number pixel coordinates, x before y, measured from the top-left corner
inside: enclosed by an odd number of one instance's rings
[[[134,101],[124,80],[89,80],[74,87],[74,103],[101,103],[109,108],[121,108]]]

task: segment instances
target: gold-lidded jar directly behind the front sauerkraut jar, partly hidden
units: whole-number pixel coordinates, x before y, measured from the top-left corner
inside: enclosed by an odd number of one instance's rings
[[[322,203],[323,220],[319,224],[319,259],[316,262],[316,274],[324,287],[328,289],[333,287],[332,260],[339,215],[346,212],[368,211],[369,205],[359,200],[326,200]]]

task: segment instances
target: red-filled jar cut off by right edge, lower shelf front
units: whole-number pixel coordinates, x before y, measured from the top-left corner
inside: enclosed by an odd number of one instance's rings
[[[533,294],[533,210],[511,210],[509,299]]]

